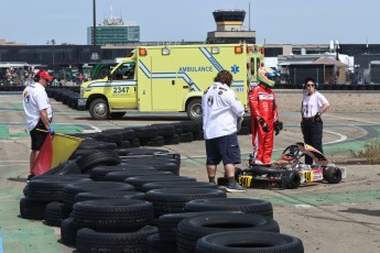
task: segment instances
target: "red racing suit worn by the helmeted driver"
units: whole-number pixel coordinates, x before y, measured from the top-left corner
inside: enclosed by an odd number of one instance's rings
[[[270,164],[273,150],[273,123],[279,121],[274,92],[264,84],[259,82],[248,92],[248,98],[251,111],[253,156],[263,164]],[[261,128],[260,119],[268,124],[268,132]]]

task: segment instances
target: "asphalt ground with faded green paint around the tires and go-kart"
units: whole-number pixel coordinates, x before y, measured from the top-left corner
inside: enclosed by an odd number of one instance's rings
[[[117,121],[93,121],[88,112],[72,110],[54,99],[52,105],[53,127],[59,133],[187,120],[184,113],[129,113]],[[58,242],[58,228],[20,218],[30,154],[23,117],[20,94],[0,95],[0,253],[73,252],[74,249]],[[280,117],[284,130],[275,138],[273,160],[279,160],[287,145],[302,141],[298,113],[281,111]],[[380,252],[380,165],[366,165],[363,160],[351,155],[361,151],[368,141],[378,139],[380,108],[371,113],[326,113],[324,124],[326,156],[347,169],[347,178],[340,184],[317,183],[297,189],[251,188],[228,197],[271,201],[281,232],[300,238],[305,252]],[[251,152],[251,135],[239,135],[239,141],[245,168]],[[207,180],[203,141],[162,148],[181,154],[181,175]],[[218,176],[221,175],[219,167]]]

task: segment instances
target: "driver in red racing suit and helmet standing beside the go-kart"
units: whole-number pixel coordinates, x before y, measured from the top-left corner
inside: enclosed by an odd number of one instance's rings
[[[276,76],[279,74],[271,69],[260,68],[258,74],[260,82],[248,94],[256,164],[271,163],[273,133],[275,132],[275,135],[280,133],[278,106],[271,89],[275,84]]]

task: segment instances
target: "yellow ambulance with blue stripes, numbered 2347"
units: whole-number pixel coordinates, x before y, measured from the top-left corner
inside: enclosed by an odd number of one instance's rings
[[[202,95],[222,69],[232,74],[231,88],[247,108],[263,53],[262,45],[245,43],[138,46],[107,77],[80,86],[78,108],[95,120],[128,111],[186,112],[200,120]]]

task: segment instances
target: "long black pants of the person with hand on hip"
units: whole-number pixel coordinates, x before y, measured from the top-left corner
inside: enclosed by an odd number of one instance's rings
[[[322,148],[322,130],[323,130],[323,121],[313,121],[313,120],[303,120],[303,134],[304,134],[304,142],[323,153]],[[308,155],[305,155],[305,164],[313,164],[313,158]]]

